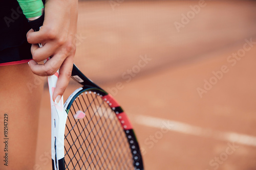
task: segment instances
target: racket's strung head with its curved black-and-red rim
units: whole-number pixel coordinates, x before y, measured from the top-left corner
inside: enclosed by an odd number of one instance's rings
[[[130,120],[110,94],[84,86],[64,107],[65,169],[144,169]]]

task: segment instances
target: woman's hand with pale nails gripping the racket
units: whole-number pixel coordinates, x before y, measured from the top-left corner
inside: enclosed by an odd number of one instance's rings
[[[77,0],[48,0],[45,4],[45,20],[38,32],[30,30],[27,40],[32,44],[32,72],[38,76],[51,76],[59,69],[59,78],[53,93],[53,101],[59,102],[71,77],[76,51]],[[38,47],[38,43],[43,46]],[[45,65],[37,64],[51,57]]]

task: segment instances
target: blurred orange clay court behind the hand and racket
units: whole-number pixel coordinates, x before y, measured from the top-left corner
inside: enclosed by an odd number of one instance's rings
[[[131,118],[145,169],[256,169],[255,10],[255,1],[79,1],[75,63]],[[78,87],[71,81],[65,99]],[[46,87],[34,169],[51,169],[50,131]]]

